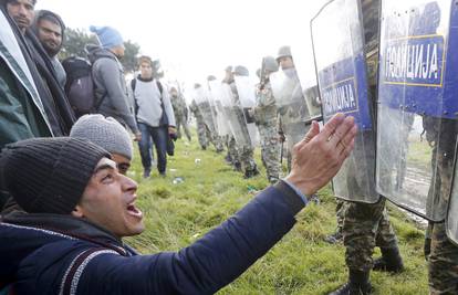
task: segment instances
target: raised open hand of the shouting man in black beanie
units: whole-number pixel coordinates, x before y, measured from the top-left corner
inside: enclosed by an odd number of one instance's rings
[[[285,180],[310,196],[333,178],[354,147],[357,133],[353,117],[334,115],[320,131],[316,122],[293,148],[292,169]]]

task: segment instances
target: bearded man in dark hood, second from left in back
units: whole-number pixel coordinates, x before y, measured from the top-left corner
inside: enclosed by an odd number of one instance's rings
[[[44,51],[51,59],[58,75],[59,84],[62,88],[65,86],[66,74],[61,62],[58,59],[58,53],[61,51],[65,33],[65,24],[61,17],[49,10],[39,10],[35,12],[35,19],[32,24],[32,30],[39,39]]]

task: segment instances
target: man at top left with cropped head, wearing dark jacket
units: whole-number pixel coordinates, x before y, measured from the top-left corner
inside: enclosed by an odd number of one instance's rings
[[[52,135],[69,135],[75,122],[72,107],[59,84],[58,75],[51,59],[31,30],[34,17],[35,0],[0,0],[0,6],[14,20],[19,28],[17,39],[21,43],[22,53],[27,55],[29,69],[43,104]]]

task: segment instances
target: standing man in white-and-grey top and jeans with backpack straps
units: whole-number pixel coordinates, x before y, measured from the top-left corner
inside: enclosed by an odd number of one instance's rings
[[[175,115],[167,89],[153,75],[153,61],[149,56],[139,57],[140,74],[131,83],[135,102],[135,116],[142,139],[138,148],[144,168],[143,177],[152,172],[152,138],[156,147],[157,170],[166,175],[167,143],[176,136]]]

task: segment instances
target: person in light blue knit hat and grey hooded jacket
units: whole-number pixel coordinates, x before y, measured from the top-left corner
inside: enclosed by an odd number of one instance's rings
[[[92,76],[95,84],[95,95],[98,101],[97,113],[113,117],[124,126],[128,126],[140,140],[134,114],[129,108],[129,98],[124,77],[124,69],[119,59],[124,56],[124,41],[121,33],[111,27],[90,27],[95,33],[101,46],[86,46],[92,63]]]

